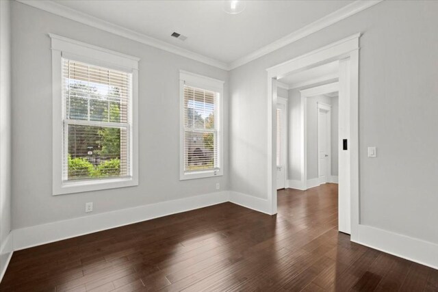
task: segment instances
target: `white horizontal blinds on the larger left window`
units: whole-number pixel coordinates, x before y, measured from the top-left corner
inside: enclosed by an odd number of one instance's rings
[[[62,59],[64,181],[131,175],[132,75]]]

